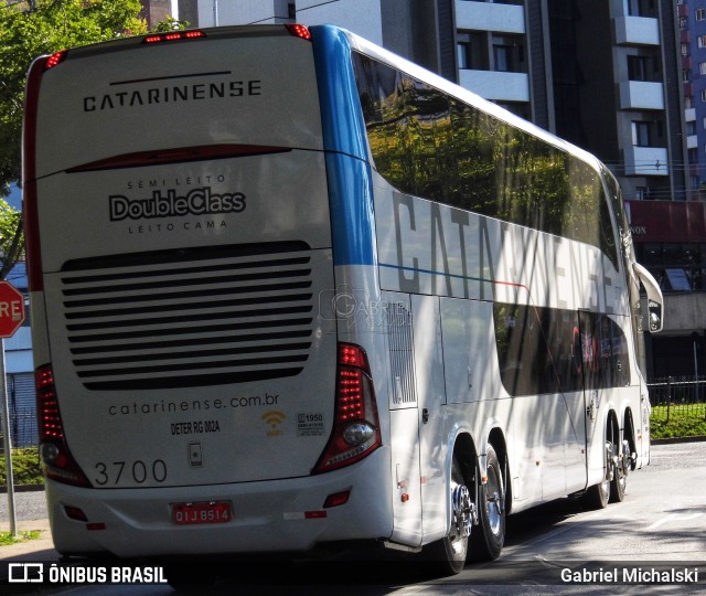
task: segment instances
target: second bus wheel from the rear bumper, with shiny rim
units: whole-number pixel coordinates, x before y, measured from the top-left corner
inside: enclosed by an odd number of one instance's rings
[[[488,481],[478,486],[479,530],[471,536],[475,561],[493,561],[505,542],[505,482],[503,468],[492,445],[488,445]],[[479,475],[480,478],[480,475]]]

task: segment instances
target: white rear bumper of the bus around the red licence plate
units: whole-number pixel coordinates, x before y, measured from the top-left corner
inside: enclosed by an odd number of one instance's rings
[[[330,473],[164,489],[81,489],[46,481],[56,550],[65,555],[110,553],[120,557],[304,552],[322,543],[389,538],[393,531],[389,454],[379,448],[350,468]],[[349,501],[323,508],[329,494]],[[228,501],[226,523],[176,525],[178,502]],[[86,521],[71,519],[66,507]]]

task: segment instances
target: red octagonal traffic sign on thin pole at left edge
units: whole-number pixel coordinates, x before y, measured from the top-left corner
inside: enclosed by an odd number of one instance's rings
[[[10,437],[10,407],[4,369],[4,338],[11,338],[24,322],[24,296],[10,283],[0,281],[0,400],[2,401],[2,439],[6,457],[6,477],[8,483],[8,513],[10,533],[17,536],[14,513],[14,478],[12,473],[12,440]]]

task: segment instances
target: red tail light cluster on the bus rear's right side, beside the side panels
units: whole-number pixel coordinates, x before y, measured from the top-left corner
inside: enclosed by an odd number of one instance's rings
[[[339,343],[334,416],[314,473],[350,466],[383,444],[370,365],[360,345]]]

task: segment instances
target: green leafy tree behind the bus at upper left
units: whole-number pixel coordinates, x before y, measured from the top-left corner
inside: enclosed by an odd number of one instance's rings
[[[7,196],[10,184],[21,180],[24,86],[32,60],[66,47],[146,33],[141,9],[140,0],[0,0],[0,196]],[[181,25],[168,20],[158,29]],[[0,201],[0,278],[4,278],[21,254],[22,237],[19,213]]]

